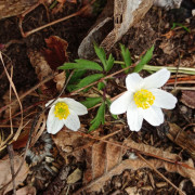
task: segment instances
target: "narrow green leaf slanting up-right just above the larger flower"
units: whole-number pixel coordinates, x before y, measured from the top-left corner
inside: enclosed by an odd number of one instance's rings
[[[154,51],[154,44],[151,47],[151,49],[146,52],[146,54],[141,58],[140,63],[134,67],[134,73],[139,73],[143,69],[144,65],[147,64],[152,56]]]

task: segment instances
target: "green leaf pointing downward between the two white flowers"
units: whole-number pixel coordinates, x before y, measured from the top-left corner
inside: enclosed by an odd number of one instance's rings
[[[92,123],[89,132],[95,130],[101,123],[105,122],[105,102],[99,107],[95,118],[90,122]]]

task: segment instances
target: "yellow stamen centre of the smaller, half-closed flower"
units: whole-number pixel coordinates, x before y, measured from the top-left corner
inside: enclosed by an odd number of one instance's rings
[[[57,102],[55,104],[54,114],[55,114],[55,117],[57,117],[60,120],[66,119],[69,115],[68,105],[64,102]]]

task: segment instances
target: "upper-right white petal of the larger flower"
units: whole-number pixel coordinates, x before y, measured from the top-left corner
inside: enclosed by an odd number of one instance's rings
[[[170,72],[167,70],[166,68],[162,68],[156,72],[155,74],[144,78],[143,88],[144,89],[160,88],[167,82],[169,77],[170,77]]]

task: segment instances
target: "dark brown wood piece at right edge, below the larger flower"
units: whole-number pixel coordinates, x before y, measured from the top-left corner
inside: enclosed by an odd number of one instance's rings
[[[177,126],[176,123],[169,123],[169,132],[167,136],[178,144],[180,147],[185,150],[193,159],[195,159],[195,139]]]

